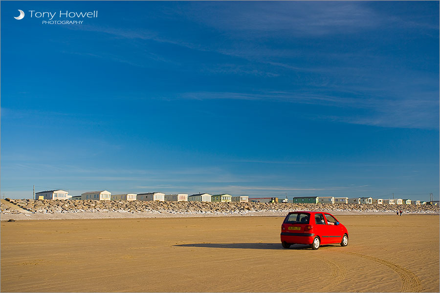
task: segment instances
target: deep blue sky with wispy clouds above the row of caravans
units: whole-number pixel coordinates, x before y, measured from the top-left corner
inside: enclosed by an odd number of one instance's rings
[[[33,185],[438,200],[439,2],[1,1],[0,192]]]

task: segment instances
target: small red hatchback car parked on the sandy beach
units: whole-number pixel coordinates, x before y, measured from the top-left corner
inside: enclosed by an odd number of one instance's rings
[[[292,211],[281,225],[281,244],[289,248],[292,244],[308,244],[317,250],[321,244],[348,244],[348,231],[344,225],[328,212]]]

